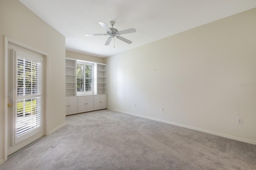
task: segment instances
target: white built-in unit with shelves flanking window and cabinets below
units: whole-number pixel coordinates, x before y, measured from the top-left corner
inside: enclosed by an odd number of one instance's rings
[[[107,65],[103,63],[93,63],[94,94],[77,96],[76,63],[76,59],[66,58],[66,115],[106,109]]]

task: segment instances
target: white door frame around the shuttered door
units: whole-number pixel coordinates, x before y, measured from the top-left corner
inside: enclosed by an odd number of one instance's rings
[[[39,49],[36,49],[30,45],[27,45],[25,43],[19,42],[17,40],[14,40],[12,38],[9,38],[8,36],[4,36],[4,162],[7,161],[7,148],[8,148],[8,43],[14,43],[16,45],[19,45],[21,47],[24,47],[26,49],[30,49],[32,51],[35,51],[37,53],[40,53],[42,55],[44,55],[44,63],[45,63],[45,71],[44,71],[44,75],[45,75],[45,79],[44,81],[46,81],[46,83],[44,83],[45,85],[45,91],[44,91],[44,102],[45,102],[45,106],[44,106],[44,135],[47,136],[49,134],[49,126],[48,126],[48,102],[49,100],[49,54],[45,53],[44,51],[41,51]]]

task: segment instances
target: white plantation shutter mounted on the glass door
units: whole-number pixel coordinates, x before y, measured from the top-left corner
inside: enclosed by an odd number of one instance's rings
[[[16,52],[15,142],[42,130],[42,59]]]

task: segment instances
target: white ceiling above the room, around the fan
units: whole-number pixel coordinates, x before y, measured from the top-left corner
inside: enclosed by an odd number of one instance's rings
[[[252,8],[256,0],[20,0],[66,37],[66,49],[108,57]],[[136,33],[124,34],[131,44],[108,36],[98,22]]]

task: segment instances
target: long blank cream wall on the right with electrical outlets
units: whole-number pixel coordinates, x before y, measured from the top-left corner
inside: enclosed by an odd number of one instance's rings
[[[256,144],[255,19],[256,8],[107,57],[108,109]]]

